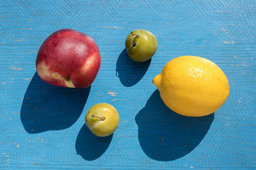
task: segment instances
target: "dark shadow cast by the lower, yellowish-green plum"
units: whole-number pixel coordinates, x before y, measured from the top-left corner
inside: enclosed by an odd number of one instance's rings
[[[98,159],[106,152],[112,138],[113,134],[106,137],[95,136],[84,124],[76,138],[76,153],[85,160]]]

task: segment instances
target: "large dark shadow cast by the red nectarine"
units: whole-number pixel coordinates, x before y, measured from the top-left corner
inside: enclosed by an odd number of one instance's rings
[[[80,117],[90,88],[56,87],[45,83],[35,73],[20,109],[24,129],[30,134],[67,129]]]

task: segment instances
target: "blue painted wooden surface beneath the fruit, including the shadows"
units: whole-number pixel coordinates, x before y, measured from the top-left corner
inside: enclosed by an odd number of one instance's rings
[[[88,89],[42,81],[36,54],[58,29],[89,34],[102,64]],[[132,62],[134,29],[156,35],[157,52]],[[256,168],[256,2],[0,2],[0,169]],[[198,55],[227,75],[230,96],[214,114],[191,118],[164,106],[152,83],[171,59]],[[109,103],[115,133],[97,138],[86,111]]]

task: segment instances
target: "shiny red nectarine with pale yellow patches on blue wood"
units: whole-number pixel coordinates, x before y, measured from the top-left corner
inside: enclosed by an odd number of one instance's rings
[[[41,45],[36,57],[36,71],[45,82],[86,88],[100,68],[100,52],[95,41],[82,32],[61,29]]]

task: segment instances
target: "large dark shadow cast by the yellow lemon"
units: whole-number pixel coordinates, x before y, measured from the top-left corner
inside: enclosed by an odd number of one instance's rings
[[[199,145],[214,113],[205,117],[179,115],[165,106],[156,90],[135,120],[143,152],[151,159],[170,161],[184,157]]]

